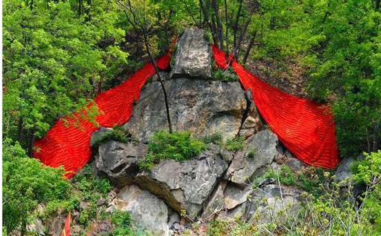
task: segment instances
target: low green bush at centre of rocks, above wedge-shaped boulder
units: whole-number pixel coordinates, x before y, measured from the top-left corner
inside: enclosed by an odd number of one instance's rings
[[[150,169],[163,159],[183,161],[191,159],[205,150],[203,142],[192,137],[190,132],[157,131],[148,143],[148,153],[139,166]]]

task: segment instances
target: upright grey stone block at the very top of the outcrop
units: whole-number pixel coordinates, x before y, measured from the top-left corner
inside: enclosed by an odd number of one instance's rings
[[[187,28],[178,39],[172,77],[212,77],[212,48],[204,33],[199,28]]]

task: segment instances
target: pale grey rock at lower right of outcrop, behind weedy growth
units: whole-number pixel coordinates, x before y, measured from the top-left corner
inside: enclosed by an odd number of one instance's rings
[[[245,221],[260,224],[270,222],[271,217],[296,216],[300,210],[300,193],[298,188],[279,187],[277,184],[255,190],[247,199]]]

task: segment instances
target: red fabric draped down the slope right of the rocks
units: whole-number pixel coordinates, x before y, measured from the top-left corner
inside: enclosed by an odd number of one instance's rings
[[[213,46],[213,54],[217,65],[225,68],[225,53]],[[335,122],[328,106],[271,87],[236,61],[231,66],[243,87],[251,89],[260,115],[291,153],[312,166],[334,168],[339,164]]]

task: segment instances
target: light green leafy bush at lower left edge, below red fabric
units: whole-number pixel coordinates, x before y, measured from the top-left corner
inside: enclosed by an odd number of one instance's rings
[[[3,226],[8,233],[25,234],[38,204],[70,197],[72,186],[63,174],[63,168],[43,166],[27,157],[18,143],[3,141]]]

